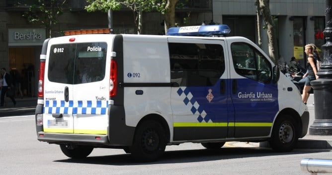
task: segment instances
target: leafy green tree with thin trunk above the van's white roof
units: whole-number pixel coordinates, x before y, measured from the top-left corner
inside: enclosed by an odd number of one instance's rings
[[[134,23],[137,34],[142,34],[143,11],[151,11],[156,0],[87,0],[89,5],[85,6],[87,12],[108,10],[120,10],[121,7],[129,8],[133,12]]]

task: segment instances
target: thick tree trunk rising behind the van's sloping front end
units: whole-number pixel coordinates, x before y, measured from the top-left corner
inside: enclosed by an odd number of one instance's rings
[[[278,48],[277,48],[277,35],[275,32],[275,25],[270,11],[269,0],[256,0],[255,5],[257,7],[257,12],[261,13],[264,20],[264,28],[266,28],[266,33],[268,37],[268,52],[272,61],[278,63]],[[259,16],[259,14],[257,15]],[[257,19],[259,20],[259,19]],[[258,22],[258,21],[257,21]],[[259,30],[260,26],[258,26]],[[258,39],[260,40],[260,39]]]

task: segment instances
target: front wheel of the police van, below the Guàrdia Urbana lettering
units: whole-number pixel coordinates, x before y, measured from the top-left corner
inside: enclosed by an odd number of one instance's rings
[[[274,151],[291,151],[299,139],[298,133],[298,127],[294,118],[289,115],[283,115],[278,117],[274,123],[271,138],[268,141]]]

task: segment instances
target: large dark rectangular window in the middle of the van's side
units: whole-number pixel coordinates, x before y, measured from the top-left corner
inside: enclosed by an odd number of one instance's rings
[[[168,49],[171,82],[180,86],[213,86],[225,71],[221,45],[168,43]]]

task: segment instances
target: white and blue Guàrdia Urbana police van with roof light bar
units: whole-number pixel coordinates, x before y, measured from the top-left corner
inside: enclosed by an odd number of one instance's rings
[[[38,140],[71,158],[120,148],[154,161],[166,145],[184,142],[218,149],[267,140],[291,151],[309,123],[299,91],[260,48],[223,36],[229,32],[227,25],[175,27],[167,36],[82,30],[45,40]]]

